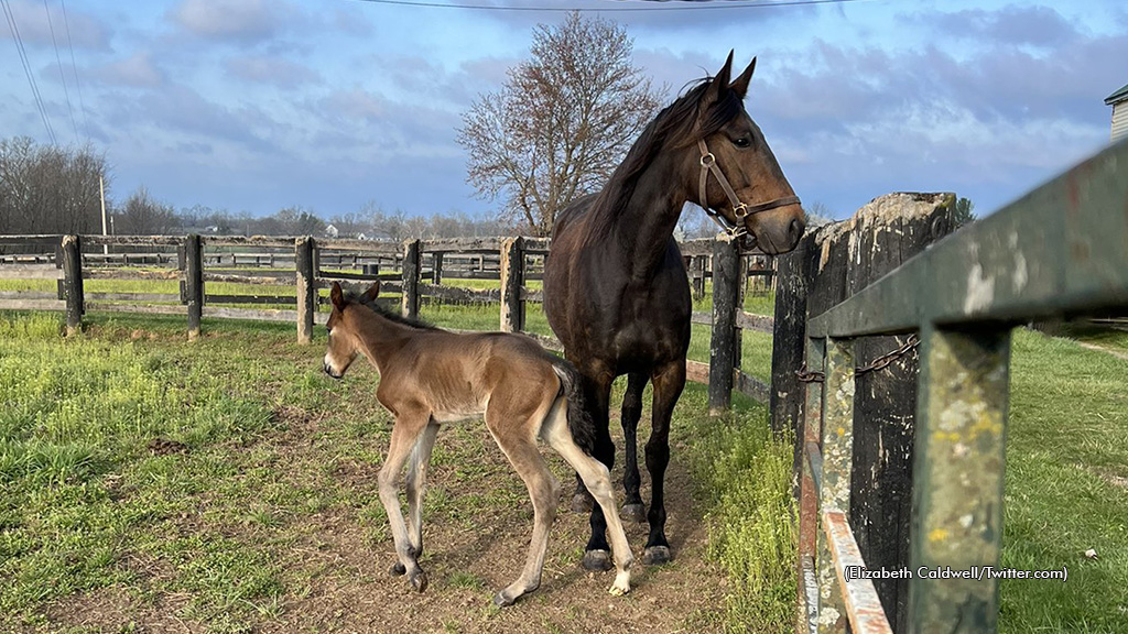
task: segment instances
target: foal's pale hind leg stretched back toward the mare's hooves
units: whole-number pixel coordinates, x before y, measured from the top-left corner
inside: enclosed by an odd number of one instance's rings
[[[615,553],[615,565],[618,569],[610,592],[626,595],[631,591],[631,565],[634,563],[634,555],[631,553],[631,545],[627,544],[623,522],[615,510],[611,474],[602,463],[584,454],[583,449],[572,439],[565,412],[563,404],[555,410],[546,421],[541,435],[588,483],[588,490],[591,491],[599,508],[603,510],[608,525],[607,531],[611,537],[611,548]]]

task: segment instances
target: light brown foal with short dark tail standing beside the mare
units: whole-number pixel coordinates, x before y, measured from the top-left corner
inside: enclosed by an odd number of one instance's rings
[[[615,507],[610,473],[591,457],[596,431],[581,402],[575,368],[525,335],[451,333],[400,317],[376,302],[379,289],[376,282],[354,298],[333,283],[324,368],[340,379],[363,354],[380,375],[377,398],[395,416],[391,444],[378,478],[396,547],[393,574],[406,573],[413,588],[426,590],[428,576],[418,558],[431,450],[442,424],[484,415],[490,434],[525,481],[534,509],[525,569],[497,592],[494,602],[510,606],[540,585],[561,485],[537,449],[538,438],[572,465],[607,514],[618,566],[609,591],[629,592],[634,556]],[[407,525],[397,485],[405,464]]]

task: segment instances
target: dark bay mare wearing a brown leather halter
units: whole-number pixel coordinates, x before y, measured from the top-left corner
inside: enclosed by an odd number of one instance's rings
[[[686,381],[691,303],[673,229],[686,202],[703,208],[743,246],[768,254],[795,248],[804,212],[743,100],[756,60],[730,82],[732,53],[712,79],[699,80],[643,130],[602,191],[576,200],[556,219],[545,263],[544,309],[583,377],[599,435],[596,457],[608,467],[611,382],[627,375],[623,397],[627,521],[650,521],[643,563],[671,560],[663,481],[673,406]],[[712,182],[715,180],[715,184]],[[710,185],[713,186],[710,186]],[[738,243],[739,244],[739,243]],[[640,495],[636,429],[642,395],[654,385],[646,468],[649,513]],[[583,566],[610,567],[602,509],[576,478],[573,509],[591,510]]]

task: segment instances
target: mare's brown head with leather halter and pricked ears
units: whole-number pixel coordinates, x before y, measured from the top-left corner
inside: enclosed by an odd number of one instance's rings
[[[691,192],[690,200],[706,211],[714,210],[731,231],[742,229],[765,253],[779,254],[799,244],[805,214],[764,133],[744,111],[744,96],[755,70],[752,59],[732,79],[730,52],[716,77],[702,81],[678,100],[696,106],[695,126],[689,129],[693,132],[679,143],[686,155],[685,174],[689,178],[684,184]],[[688,105],[682,106],[687,114]],[[677,106],[675,103],[671,108]]]

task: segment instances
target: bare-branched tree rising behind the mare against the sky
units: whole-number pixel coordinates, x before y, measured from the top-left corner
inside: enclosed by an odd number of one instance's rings
[[[617,24],[579,12],[539,25],[531,58],[462,115],[467,180],[479,195],[503,199],[503,219],[548,235],[556,213],[598,190],[623,160],[663,93],[632,65],[633,46]]]

